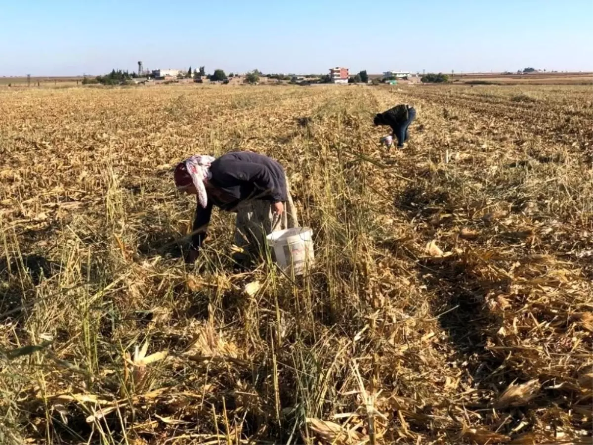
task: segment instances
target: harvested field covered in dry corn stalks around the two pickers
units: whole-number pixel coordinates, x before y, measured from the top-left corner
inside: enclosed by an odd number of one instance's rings
[[[593,87],[2,88],[0,116],[0,442],[591,443]],[[172,170],[231,150],[286,167],[309,275],[233,272],[218,211],[180,259]]]

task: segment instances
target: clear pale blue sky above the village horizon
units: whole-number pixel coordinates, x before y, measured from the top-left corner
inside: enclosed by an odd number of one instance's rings
[[[593,71],[593,0],[0,0],[0,75]]]

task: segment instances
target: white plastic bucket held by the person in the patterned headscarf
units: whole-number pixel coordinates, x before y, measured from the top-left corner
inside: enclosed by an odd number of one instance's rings
[[[272,232],[266,240],[280,268],[285,272],[294,269],[295,275],[302,275],[315,260],[312,235],[310,228],[296,227]]]

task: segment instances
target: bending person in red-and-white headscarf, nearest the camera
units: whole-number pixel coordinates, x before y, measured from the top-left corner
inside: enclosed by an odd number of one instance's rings
[[[241,265],[257,256],[267,235],[298,227],[285,171],[272,158],[250,151],[219,158],[196,155],[179,163],[174,176],[180,191],[197,195],[187,262],[195,262],[208,236],[213,206],[237,213],[234,242],[243,252],[234,253],[233,258]]]

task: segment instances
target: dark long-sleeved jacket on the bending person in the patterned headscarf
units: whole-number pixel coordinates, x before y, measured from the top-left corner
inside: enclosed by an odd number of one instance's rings
[[[212,206],[233,212],[240,202],[248,199],[286,201],[286,176],[278,163],[251,151],[233,151],[212,162],[209,180],[217,193],[208,193],[208,205],[202,208],[198,201],[193,222],[192,247],[199,249],[206,238]]]

